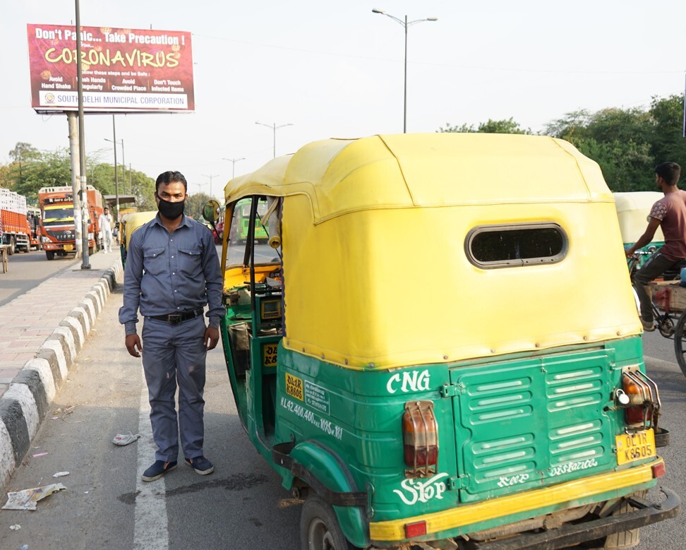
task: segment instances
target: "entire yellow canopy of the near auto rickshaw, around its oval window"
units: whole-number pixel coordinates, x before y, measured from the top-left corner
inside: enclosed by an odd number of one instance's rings
[[[612,193],[565,141],[317,141],[226,187],[227,203],[255,195],[284,197],[283,345],[294,352],[392,369],[640,333]],[[470,256],[475,230],[537,224],[560,228],[560,261],[491,269]],[[229,272],[228,287],[246,280],[242,265]]]

